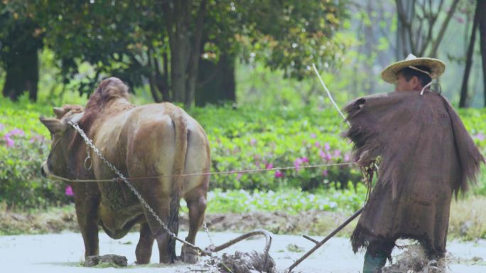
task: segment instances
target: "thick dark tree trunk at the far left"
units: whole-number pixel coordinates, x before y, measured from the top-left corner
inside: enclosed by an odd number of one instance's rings
[[[4,97],[16,101],[23,92],[28,91],[29,100],[37,100],[37,84],[39,81],[39,61],[37,48],[18,48],[15,55],[6,63]]]

